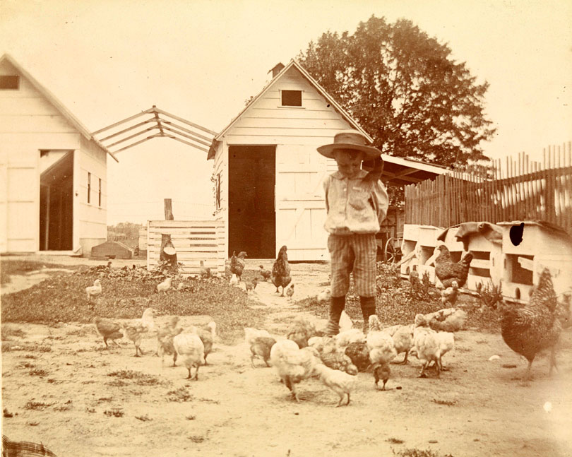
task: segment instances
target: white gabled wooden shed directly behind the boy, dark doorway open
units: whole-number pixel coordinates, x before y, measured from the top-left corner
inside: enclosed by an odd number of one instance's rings
[[[285,244],[290,260],[329,258],[322,182],[337,167],[316,148],[345,129],[367,136],[297,61],[273,69],[208,152],[229,255],[270,259]]]

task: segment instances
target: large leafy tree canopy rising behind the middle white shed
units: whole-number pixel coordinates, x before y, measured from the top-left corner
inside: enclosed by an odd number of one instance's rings
[[[297,59],[383,153],[446,166],[488,160],[488,83],[410,20],[371,16],[353,35],[324,33]]]

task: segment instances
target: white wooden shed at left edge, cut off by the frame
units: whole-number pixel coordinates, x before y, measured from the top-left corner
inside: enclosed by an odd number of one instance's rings
[[[54,95],[4,54],[0,252],[89,255],[105,242],[108,154],[114,158]]]

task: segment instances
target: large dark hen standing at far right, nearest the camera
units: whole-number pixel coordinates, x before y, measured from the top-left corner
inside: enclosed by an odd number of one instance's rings
[[[538,285],[525,307],[504,302],[499,304],[504,342],[528,360],[524,381],[530,379],[532,361],[543,349],[551,349],[549,374],[552,374],[552,368],[556,367],[556,343],[562,331],[557,307],[556,293],[547,268],[540,274]]]

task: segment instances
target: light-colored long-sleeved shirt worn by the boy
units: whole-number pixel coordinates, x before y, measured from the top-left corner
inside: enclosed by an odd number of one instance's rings
[[[386,218],[389,198],[381,181],[357,177],[347,179],[340,172],[330,174],[323,182],[328,215],[324,228],[333,235],[377,233]]]

